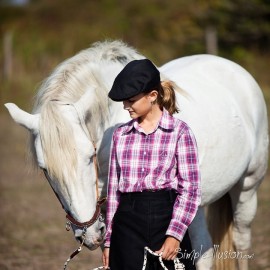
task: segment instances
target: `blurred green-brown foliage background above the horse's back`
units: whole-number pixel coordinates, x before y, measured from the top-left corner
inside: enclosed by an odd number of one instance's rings
[[[4,80],[1,44],[0,98],[29,106],[37,83],[59,62],[99,40],[122,39],[158,65],[205,53],[208,26],[217,30],[219,55],[267,80],[257,70],[270,57],[269,16],[268,0],[32,0],[26,6],[2,5],[0,36],[13,36],[13,77]]]

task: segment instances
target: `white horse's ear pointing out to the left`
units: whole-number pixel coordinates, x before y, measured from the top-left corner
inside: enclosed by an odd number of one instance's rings
[[[20,109],[14,103],[6,103],[5,107],[8,109],[10,116],[19,125],[25,127],[30,131],[38,130],[38,117],[39,115],[33,115]]]

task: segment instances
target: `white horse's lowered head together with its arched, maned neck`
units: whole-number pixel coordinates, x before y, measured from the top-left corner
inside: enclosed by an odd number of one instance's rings
[[[105,233],[99,199],[107,191],[112,132],[129,119],[107,93],[123,66],[141,58],[120,41],[96,43],[44,80],[32,114],[6,104],[15,122],[30,131],[33,161],[44,171],[76,239],[89,249],[98,247]]]

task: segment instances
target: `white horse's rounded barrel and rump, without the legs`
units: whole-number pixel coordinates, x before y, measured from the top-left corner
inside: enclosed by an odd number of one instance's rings
[[[244,69],[216,56],[180,58],[161,67],[161,72],[187,93],[177,93],[181,112],[176,117],[187,122],[195,133],[202,173],[202,205],[207,205],[229,191],[245,174],[252,173],[254,162],[258,171],[258,161],[267,159],[263,96]],[[258,180],[265,169],[264,162]]]

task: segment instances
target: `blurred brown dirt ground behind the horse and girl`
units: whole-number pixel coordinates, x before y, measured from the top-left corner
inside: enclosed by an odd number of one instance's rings
[[[77,247],[65,215],[40,171],[26,162],[27,132],[0,114],[0,270],[59,270]],[[270,177],[259,190],[250,269],[270,269]],[[101,265],[100,250],[84,249],[70,270]]]

